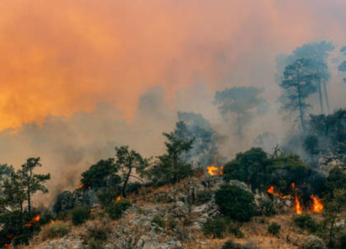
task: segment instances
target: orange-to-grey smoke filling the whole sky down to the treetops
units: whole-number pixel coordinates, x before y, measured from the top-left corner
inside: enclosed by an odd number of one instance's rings
[[[238,146],[215,92],[264,88],[268,114],[247,136],[284,134],[275,58],[328,40],[340,59],[345,10],[344,0],[3,0],[0,163],[41,156],[50,189],[71,188],[115,145],[160,154],[177,111],[203,115],[230,158]],[[336,109],[346,105],[346,85],[329,63]]]

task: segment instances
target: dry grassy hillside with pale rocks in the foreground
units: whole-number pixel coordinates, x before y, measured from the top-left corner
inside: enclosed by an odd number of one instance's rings
[[[94,205],[91,218],[85,224],[73,226],[71,221],[55,221],[43,227],[26,248],[221,249],[227,240],[233,239],[248,249],[293,249],[306,240],[308,234],[293,223],[292,203],[266,193],[255,193],[256,206],[260,209],[260,200],[274,198],[276,215],[256,216],[242,224],[238,232],[227,231],[223,238],[206,236],[203,224],[220,216],[214,193],[222,184],[220,177],[201,176],[174,186],[144,188],[128,197],[132,206],[119,220],[111,220],[104,210]],[[231,181],[230,184],[250,191],[242,182]],[[281,226],[276,235],[268,233],[272,222]],[[65,235],[49,236],[52,226],[58,227],[56,224],[68,228]],[[103,239],[90,242],[91,237],[97,237],[95,234]]]

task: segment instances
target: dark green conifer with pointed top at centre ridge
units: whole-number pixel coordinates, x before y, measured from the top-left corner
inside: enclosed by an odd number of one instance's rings
[[[192,148],[194,140],[178,138],[174,132],[163,135],[167,138],[167,152],[157,157],[156,163],[147,171],[147,175],[156,184],[174,184],[193,173],[192,165],[186,162],[184,156]]]

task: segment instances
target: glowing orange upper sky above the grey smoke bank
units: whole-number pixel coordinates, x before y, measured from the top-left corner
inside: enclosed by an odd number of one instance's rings
[[[99,102],[131,118],[154,86],[173,101],[190,84],[250,83],[264,54],[272,64],[258,81],[267,84],[278,53],[345,41],[344,2],[2,0],[0,130]]]

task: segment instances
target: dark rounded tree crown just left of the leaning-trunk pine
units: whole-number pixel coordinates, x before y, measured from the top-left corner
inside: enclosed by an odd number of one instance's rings
[[[100,160],[82,173],[81,182],[84,188],[101,188],[115,185],[121,182],[117,172],[118,168],[113,158]]]

